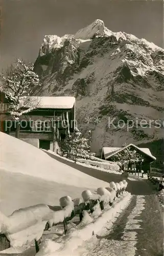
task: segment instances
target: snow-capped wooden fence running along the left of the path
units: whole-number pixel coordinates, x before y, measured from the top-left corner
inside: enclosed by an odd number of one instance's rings
[[[106,188],[105,190],[108,192],[108,188]],[[120,190],[113,189],[114,194],[110,194],[112,193],[110,192],[108,196],[108,200],[105,199],[105,202],[104,202],[104,195],[106,194],[103,194],[102,190],[101,190],[101,193],[99,193],[99,190],[97,190],[97,197],[93,196],[90,190],[85,190],[82,193],[83,200],[81,198],[72,200],[71,197],[69,196],[60,198],[60,207],[58,206],[58,208],[61,208],[60,210],[55,210],[56,206],[48,206],[45,204],[40,204],[40,205],[34,205],[24,209],[16,210],[9,217],[2,214],[4,223],[2,222],[2,228],[0,233],[0,251],[3,251],[10,247],[15,247],[14,242],[12,242],[13,244],[11,244],[11,241],[12,241],[11,239],[13,238],[13,240],[15,241],[15,238],[17,238],[18,232],[21,235],[22,231],[26,231],[30,228],[31,234],[34,231],[33,239],[30,241],[29,236],[26,237],[26,232],[23,232],[22,234],[25,237],[21,238],[21,240],[23,240],[25,244],[31,243],[33,240],[35,240],[35,249],[36,249],[36,252],[38,252],[39,244],[41,242],[41,237],[39,235],[39,238],[38,238],[38,234],[36,234],[37,225],[39,225],[39,227],[40,226],[42,227],[41,232],[43,233],[43,231],[48,230],[50,227],[56,226],[62,223],[64,228],[64,234],[66,234],[68,221],[72,220],[75,216],[79,216],[79,222],[81,222],[83,219],[84,210],[92,213],[95,210],[95,205],[97,204],[100,205],[101,210],[104,210],[104,206],[106,204],[109,204],[111,206],[113,203],[113,200],[120,197],[120,195],[123,194],[125,190],[126,190],[126,186],[122,188],[120,187]],[[88,191],[90,194],[87,194]],[[65,205],[64,203],[61,204],[61,202],[66,202],[64,200],[67,198],[70,200],[69,203],[71,204],[70,205],[67,203],[65,203]],[[24,213],[23,215],[24,220],[22,220],[21,211],[23,211]],[[27,212],[27,217],[29,216],[29,218],[26,218],[26,212]],[[28,212],[30,212],[30,215],[28,215]],[[37,216],[35,216],[36,212],[38,213],[39,220],[37,220]],[[16,237],[14,237],[15,234],[16,234]]]

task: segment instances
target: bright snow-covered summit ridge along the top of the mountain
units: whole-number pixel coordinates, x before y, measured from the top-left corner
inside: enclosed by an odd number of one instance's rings
[[[103,20],[96,19],[90,25],[86,26],[85,28],[80,29],[77,33],[73,34],[66,34],[62,37],[58,35],[45,35],[43,39],[43,43],[40,46],[39,55],[43,56],[54,49],[59,49],[64,46],[65,40],[77,40],[78,44],[80,42],[92,40],[95,37],[111,37],[113,41],[126,41],[127,43],[134,43],[138,46],[144,46],[146,49],[151,50],[152,52],[155,51],[163,51],[160,47],[154,45],[152,42],[148,42],[146,39],[138,39],[136,36],[132,34],[127,34],[125,32],[112,32],[108,28],[105,27]]]

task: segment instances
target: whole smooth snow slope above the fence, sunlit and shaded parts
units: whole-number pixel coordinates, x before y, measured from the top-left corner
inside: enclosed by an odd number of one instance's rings
[[[1,140],[1,211],[10,215],[20,207],[45,203],[59,205],[59,198],[81,196],[85,189],[93,193],[98,187],[108,186],[63,164],[38,148],[0,134]]]

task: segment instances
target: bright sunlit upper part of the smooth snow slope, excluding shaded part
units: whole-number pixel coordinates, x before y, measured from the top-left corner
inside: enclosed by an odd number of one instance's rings
[[[73,187],[97,189],[99,186],[107,185],[106,182],[63,164],[51,158],[39,148],[5,133],[0,134],[0,142],[1,148],[3,148],[0,162],[2,170],[39,177]],[[68,191],[65,194],[67,195]]]

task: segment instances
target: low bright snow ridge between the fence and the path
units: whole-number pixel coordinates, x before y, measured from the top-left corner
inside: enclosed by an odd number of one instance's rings
[[[42,245],[40,251],[36,254],[38,256],[55,256],[55,255],[73,255],[73,251],[77,249],[78,246],[82,245],[84,241],[89,240],[92,235],[98,233],[102,228],[106,225],[107,222],[111,222],[114,220],[114,217],[117,213],[122,211],[127,207],[130,203],[131,195],[129,193],[125,193],[118,201],[114,204],[106,212],[93,222],[87,224],[86,226],[82,227],[78,225],[76,229],[72,233],[66,234],[64,240],[59,244],[54,242],[54,246],[51,243],[49,246],[48,242],[46,245]]]

